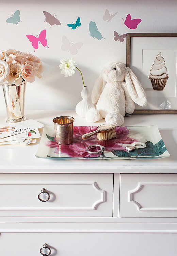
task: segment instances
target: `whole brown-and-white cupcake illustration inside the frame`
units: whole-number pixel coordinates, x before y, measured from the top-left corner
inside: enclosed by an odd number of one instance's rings
[[[165,88],[168,79],[166,70],[167,68],[165,67],[165,61],[160,52],[152,65],[149,75],[149,79],[154,90],[162,91]]]

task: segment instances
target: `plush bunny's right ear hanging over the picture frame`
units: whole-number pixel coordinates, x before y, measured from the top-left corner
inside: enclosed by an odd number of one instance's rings
[[[146,106],[147,98],[144,89],[133,71],[128,67],[125,68],[125,82],[132,100],[140,106]]]

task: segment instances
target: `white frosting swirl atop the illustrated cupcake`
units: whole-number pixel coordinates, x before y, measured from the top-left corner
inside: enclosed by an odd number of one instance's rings
[[[152,65],[152,69],[150,70],[151,75],[160,76],[166,72],[165,61],[161,56],[161,52],[157,55],[154,64]]]

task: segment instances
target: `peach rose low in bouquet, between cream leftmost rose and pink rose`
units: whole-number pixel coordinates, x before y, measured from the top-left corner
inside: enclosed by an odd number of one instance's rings
[[[9,69],[10,73],[7,79],[9,84],[15,84],[16,86],[19,86],[23,81],[22,77],[20,76],[22,71],[22,65],[20,65],[20,63],[9,64]]]

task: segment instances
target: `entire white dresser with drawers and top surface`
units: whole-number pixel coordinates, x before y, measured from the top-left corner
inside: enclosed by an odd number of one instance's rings
[[[26,112],[45,125],[60,115],[88,125],[74,111]],[[124,123],[155,124],[168,158],[52,160],[35,157],[39,139],[0,146],[0,255],[176,256],[177,116],[132,115]],[[46,202],[38,198],[43,188]],[[50,250],[40,253],[44,244]]]

